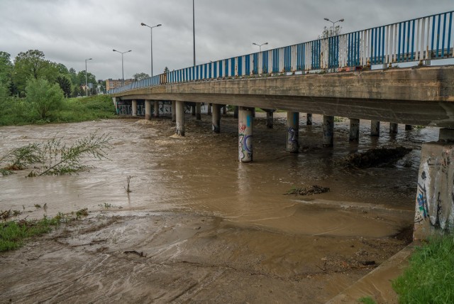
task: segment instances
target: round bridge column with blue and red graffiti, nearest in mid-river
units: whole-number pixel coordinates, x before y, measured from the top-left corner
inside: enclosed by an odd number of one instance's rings
[[[253,161],[253,124],[254,117],[250,108],[238,109],[238,161]]]

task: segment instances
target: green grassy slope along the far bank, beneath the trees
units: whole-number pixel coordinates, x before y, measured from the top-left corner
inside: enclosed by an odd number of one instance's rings
[[[116,116],[114,103],[109,95],[65,99],[62,107],[45,120],[40,119],[37,112],[33,112],[25,99],[11,97],[0,100],[0,109],[0,126],[79,122]]]

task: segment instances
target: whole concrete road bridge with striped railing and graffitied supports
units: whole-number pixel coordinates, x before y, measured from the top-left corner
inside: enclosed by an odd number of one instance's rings
[[[184,102],[212,104],[213,130],[220,110],[238,106],[238,160],[253,161],[253,114],[287,111],[287,147],[299,151],[299,113],[323,114],[323,146],[333,146],[334,116],[350,118],[350,141],[358,141],[360,119],[438,126],[440,140],[424,143],[416,195],[415,238],[454,224],[454,66],[431,63],[453,58],[453,13],[414,18],[306,43],[217,60],[111,89],[114,104],[145,104],[145,119],[160,102],[172,102],[176,133],[184,136]],[[413,67],[399,67],[414,63]],[[442,62],[443,63],[443,62]],[[210,108],[211,109],[211,108]]]

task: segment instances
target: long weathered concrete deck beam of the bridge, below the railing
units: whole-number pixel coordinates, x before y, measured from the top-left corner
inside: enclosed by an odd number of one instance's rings
[[[113,96],[454,128],[454,66],[186,82]]]

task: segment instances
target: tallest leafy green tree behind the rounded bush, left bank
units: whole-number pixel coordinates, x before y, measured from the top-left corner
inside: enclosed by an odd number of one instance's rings
[[[23,92],[28,80],[44,78],[49,82],[55,82],[58,75],[57,64],[45,60],[44,53],[40,50],[18,53],[14,59],[13,82],[19,92]]]

